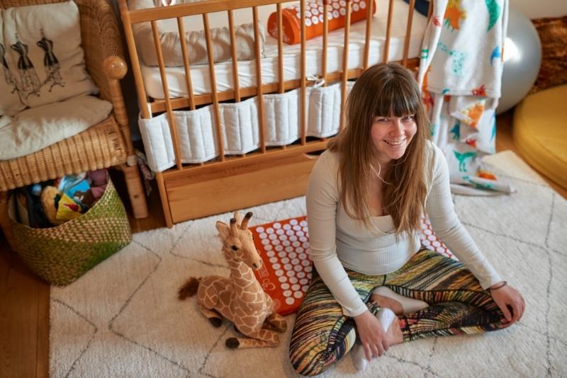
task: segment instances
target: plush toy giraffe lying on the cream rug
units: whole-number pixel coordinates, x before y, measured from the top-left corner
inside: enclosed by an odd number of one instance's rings
[[[223,241],[223,253],[230,268],[230,277],[209,275],[191,277],[179,288],[179,299],[197,294],[197,304],[203,315],[215,327],[222,317],[235,324],[237,331],[247,338],[228,338],[228,348],[275,347],[279,344],[277,332],[286,331],[286,319],[274,311],[274,301],[264,292],[252,270],[262,267],[262,258],[248,229],[252,212],[247,212],[242,223],[238,212],[230,219],[230,226],[217,222],[216,228]]]

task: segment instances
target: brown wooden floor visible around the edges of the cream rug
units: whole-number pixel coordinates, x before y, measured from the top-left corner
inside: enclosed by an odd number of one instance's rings
[[[510,149],[517,153],[511,124],[511,112],[498,116],[497,151]],[[113,173],[113,181],[126,199],[120,175]],[[567,198],[567,190],[549,183]],[[134,232],[165,226],[157,188],[150,196],[149,207],[149,218],[130,219]],[[47,377],[48,370],[49,285],[21,263],[0,234],[0,377]]]

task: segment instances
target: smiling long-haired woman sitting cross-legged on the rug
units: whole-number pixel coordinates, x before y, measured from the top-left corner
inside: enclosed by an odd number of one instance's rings
[[[299,373],[320,374],[355,343],[361,369],[403,341],[494,331],[522,317],[524,299],[454,212],[447,161],[429,130],[417,82],[399,64],[370,67],[354,84],[347,127],[308,183],[315,270],[289,347]],[[425,213],[459,262],[420,246]]]

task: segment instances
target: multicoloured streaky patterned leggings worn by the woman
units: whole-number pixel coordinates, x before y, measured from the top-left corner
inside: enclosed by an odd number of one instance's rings
[[[315,272],[314,272],[315,273]],[[429,307],[399,317],[404,341],[430,336],[480,333],[504,328],[502,311],[462,263],[422,249],[402,268],[386,275],[347,270],[354,288],[368,302],[375,287],[387,286]],[[371,311],[378,311],[371,306]],[[344,356],[356,339],[354,320],[342,314],[315,273],[293,326],[289,356],[303,375],[317,375]]]

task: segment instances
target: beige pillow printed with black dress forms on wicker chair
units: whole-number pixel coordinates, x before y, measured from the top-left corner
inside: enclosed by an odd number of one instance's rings
[[[34,108],[97,92],[86,71],[74,1],[6,8],[2,21],[4,72],[23,105]]]

